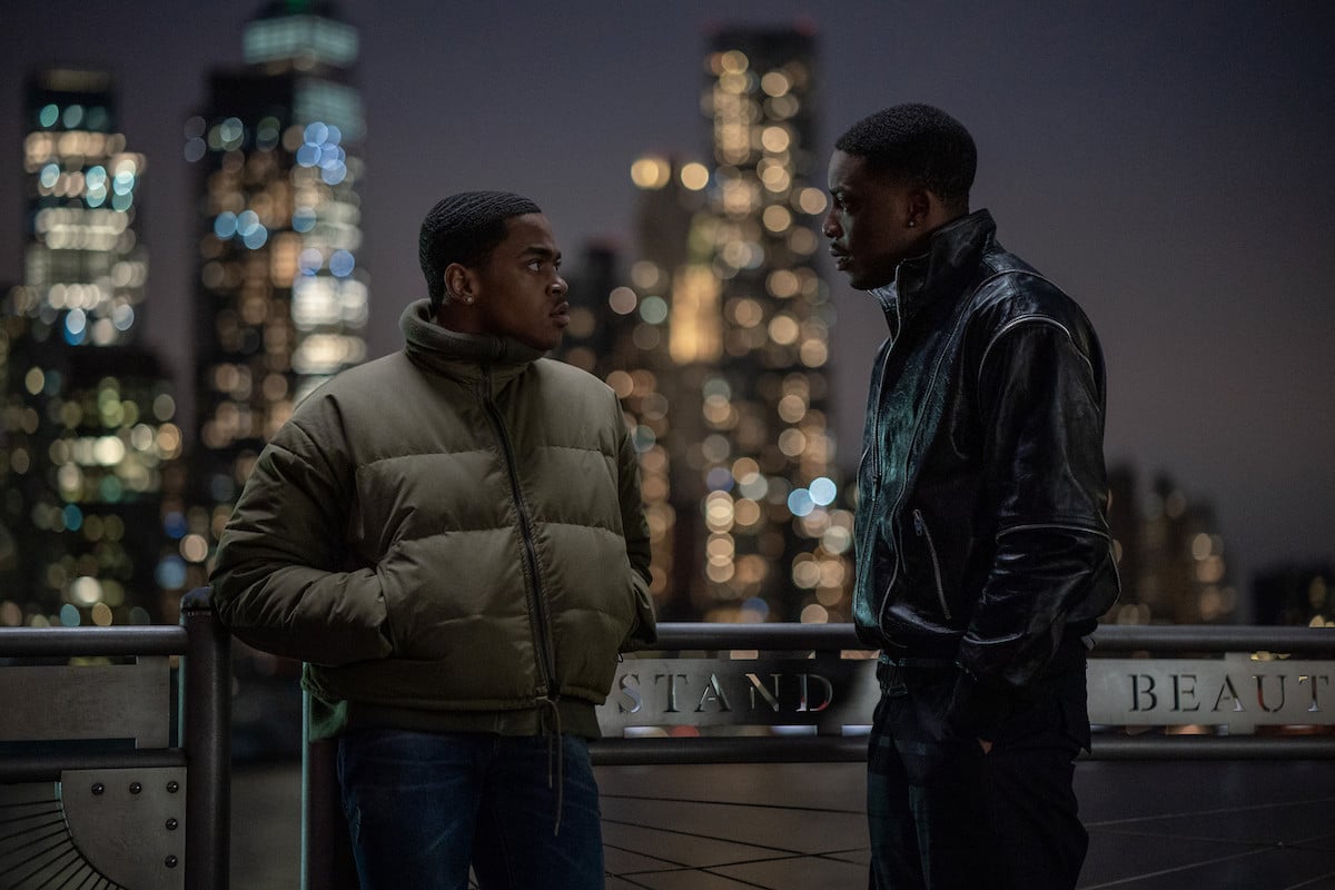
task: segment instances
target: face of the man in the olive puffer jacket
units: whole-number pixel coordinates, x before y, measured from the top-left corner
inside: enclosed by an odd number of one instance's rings
[[[542,213],[506,220],[506,239],[477,270],[482,330],[535,350],[553,350],[570,324],[561,251]]]

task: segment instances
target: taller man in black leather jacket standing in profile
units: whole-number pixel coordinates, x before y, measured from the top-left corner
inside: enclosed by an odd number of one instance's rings
[[[881,304],[858,471],[858,634],[881,648],[873,889],[1073,887],[1085,638],[1117,596],[1104,370],[1081,310],[969,212],[968,131],[854,124],[824,232]]]

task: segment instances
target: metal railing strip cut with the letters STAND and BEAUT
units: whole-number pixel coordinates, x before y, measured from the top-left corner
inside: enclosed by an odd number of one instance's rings
[[[629,727],[866,726],[880,697],[873,659],[627,658],[598,709],[605,735]],[[1103,726],[1335,725],[1335,662],[1091,658],[1089,721]]]

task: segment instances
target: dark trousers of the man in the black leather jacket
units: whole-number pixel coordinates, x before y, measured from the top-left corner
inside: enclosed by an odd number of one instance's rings
[[[953,666],[878,664],[866,778],[872,890],[1075,887],[1089,838],[1071,782],[1089,717],[1084,655],[1064,660],[988,754],[944,723]]]

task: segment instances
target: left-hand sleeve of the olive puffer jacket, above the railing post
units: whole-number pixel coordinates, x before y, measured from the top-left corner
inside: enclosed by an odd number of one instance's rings
[[[264,447],[246,482],[210,576],[214,600],[228,630],[256,648],[316,664],[384,658],[376,570],[342,570],[352,468],[336,446],[336,412],[310,407]]]

